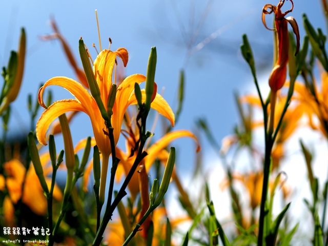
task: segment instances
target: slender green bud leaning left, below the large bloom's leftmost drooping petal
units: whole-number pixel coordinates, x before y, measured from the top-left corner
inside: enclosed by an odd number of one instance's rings
[[[44,192],[46,194],[49,194],[49,189],[48,189],[48,186],[47,186],[45,176],[43,175],[43,168],[42,168],[39,153],[37,151],[37,147],[36,147],[36,144],[35,144],[33,132],[29,133],[27,140],[28,140],[27,144],[28,144],[29,151],[30,151],[30,157],[31,157],[31,160],[32,160],[33,167],[34,167],[35,173],[37,175],[37,178],[39,179],[40,184],[41,184],[42,189],[44,190]]]

